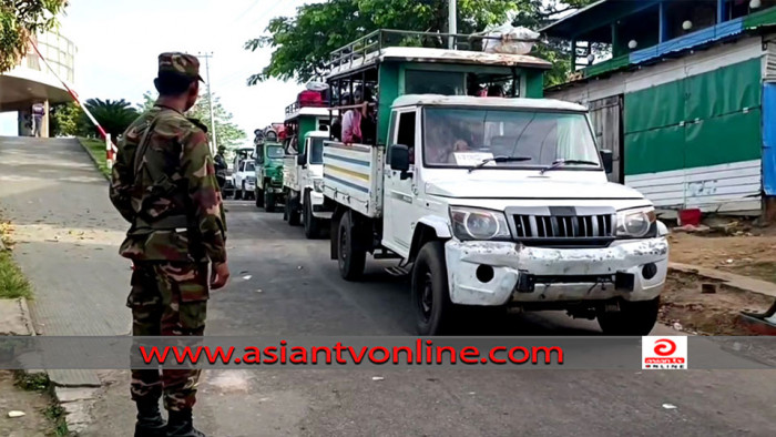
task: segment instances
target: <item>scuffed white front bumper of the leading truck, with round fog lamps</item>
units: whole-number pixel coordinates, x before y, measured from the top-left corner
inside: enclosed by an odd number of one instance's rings
[[[665,237],[616,241],[601,248],[525,247],[509,242],[459,241],[449,241],[445,248],[450,299],[462,305],[606,301],[614,297],[649,301],[663,291],[668,270],[668,242]],[[646,264],[657,267],[650,280],[642,274]],[[487,283],[478,280],[480,266],[492,267],[492,280]],[[626,276],[633,281],[630,289],[616,289],[613,283],[588,281],[596,276]],[[527,278],[535,280],[530,292],[524,287]]]

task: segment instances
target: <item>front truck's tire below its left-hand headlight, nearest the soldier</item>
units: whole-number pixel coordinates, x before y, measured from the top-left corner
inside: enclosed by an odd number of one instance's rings
[[[439,335],[449,331],[455,305],[445,263],[445,243],[429,242],[420,248],[412,266],[411,302],[418,335]]]

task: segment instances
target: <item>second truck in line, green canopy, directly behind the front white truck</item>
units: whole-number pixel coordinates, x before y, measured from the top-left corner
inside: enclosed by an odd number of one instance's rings
[[[328,108],[296,102],[286,109],[287,140],[283,165],[286,197],[284,220],[304,225],[305,236],[317,238],[328,226],[331,211],[324,211],[324,141],[329,140]],[[325,130],[324,130],[325,129]]]

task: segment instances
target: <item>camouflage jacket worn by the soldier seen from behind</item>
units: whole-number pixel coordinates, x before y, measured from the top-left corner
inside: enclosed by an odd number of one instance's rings
[[[146,152],[135,162],[135,152],[152,125],[145,138]],[[110,195],[131,223],[121,245],[122,256],[134,261],[226,261],[221,192],[207,135],[197,121],[162,106],[135,120],[119,142]]]

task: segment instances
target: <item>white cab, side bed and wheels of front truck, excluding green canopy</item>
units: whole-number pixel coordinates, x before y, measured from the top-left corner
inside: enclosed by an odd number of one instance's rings
[[[646,335],[667,228],[635,190],[610,183],[586,109],[544,99],[402,95],[388,148],[327,142],[331,256],[358,278],[367,253],[411,275],[417,331],[467,306],[563,309],[605,334]]]

